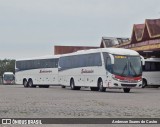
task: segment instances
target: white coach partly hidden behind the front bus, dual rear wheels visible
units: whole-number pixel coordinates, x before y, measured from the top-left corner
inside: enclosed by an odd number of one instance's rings
[[[15,82],[24,87],[48,88],[58,85],[59,56],[21,59],[16,61]]]

